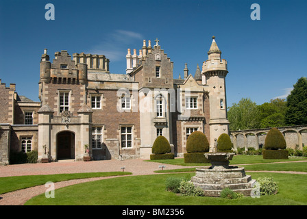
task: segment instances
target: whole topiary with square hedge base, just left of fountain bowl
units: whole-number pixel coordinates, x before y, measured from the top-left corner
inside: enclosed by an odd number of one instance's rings
[[[209,142],[207,137],[201,131],[194,131],[188,136],[186,141],[186,152],[184,153],[185,163],[209,163],[204,153],[209,151]]]

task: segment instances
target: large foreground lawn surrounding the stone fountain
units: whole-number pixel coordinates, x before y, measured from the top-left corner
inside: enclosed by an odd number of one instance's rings
[[[228,200],[212,197],[178,196],[165,190],[167,177],[192,177],[194,173],[145,175],[104,179],[71,185],[55,191],[55,198],[41,194],[26,205],[307,205],[307,175],[247,172],[252,179],[270,176],[279,192],[260,198]],[[291,179],[291,183],[289,183]]]

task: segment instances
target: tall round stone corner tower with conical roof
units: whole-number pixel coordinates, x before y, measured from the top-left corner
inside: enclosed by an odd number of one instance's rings
[[[208,51],[208,60],[202,66],[202,83],[208,86],[210,100],[210,145],[213,146],[214,138],[218,139],[222,133],[229,132],[227,118],[226,83],[228,74],[227,61],[221,59],[221,51],[217,47],[215,37]]]

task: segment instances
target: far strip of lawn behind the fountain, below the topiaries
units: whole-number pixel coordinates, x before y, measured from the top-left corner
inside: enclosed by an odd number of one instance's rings
[[[262,155],[236,155],[230,161],[230,165],[233,164],[265,164],[274,162],[293,162],[298,160],[306,160],[306,157],[297,158],[290,157],[289,159],[263,159]],[[158,160],[147,160],[147,162],[159,162],[163,164],[173,164],[180,166],[210,166],[211,164],[186,164],[184,163],[184,158],[177,159],[158,159]]]

